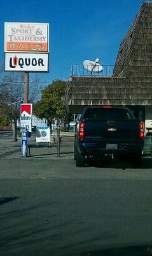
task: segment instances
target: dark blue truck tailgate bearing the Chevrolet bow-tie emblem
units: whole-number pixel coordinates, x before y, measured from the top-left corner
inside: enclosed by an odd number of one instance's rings
[[[137,120],[86,120],[85,141],[134,143],[139,139]]]

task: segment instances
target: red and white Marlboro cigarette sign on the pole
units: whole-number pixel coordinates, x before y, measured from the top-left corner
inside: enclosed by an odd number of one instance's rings
[[[20,128],[27,129],[28,132],[32,131],[32,104],[20,104]]]

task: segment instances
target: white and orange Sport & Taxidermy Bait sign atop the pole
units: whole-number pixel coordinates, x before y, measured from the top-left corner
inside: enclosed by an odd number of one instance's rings
[[[49,52],[48,23],[4,23],[5,52]]]

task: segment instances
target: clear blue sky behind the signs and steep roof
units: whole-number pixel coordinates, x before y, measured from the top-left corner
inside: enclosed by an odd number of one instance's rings
[[[0,58],[4,61],[4,22],[50,23],[50,72],[43,82],[68,80],[72,64],[100,59],[114,65],[120,42],[142,0],[1,0]],[[32,74],[30,74],[32,76]]]

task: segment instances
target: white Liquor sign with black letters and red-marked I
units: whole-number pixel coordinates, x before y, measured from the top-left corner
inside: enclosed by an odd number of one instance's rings
[[[6,53],[5,71],[48,72],[48,54]]]

